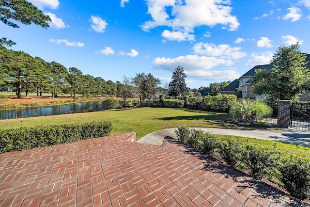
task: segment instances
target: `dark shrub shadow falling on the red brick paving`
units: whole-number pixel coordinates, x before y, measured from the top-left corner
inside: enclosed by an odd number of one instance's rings
[[[295,201],[292,200],[290,195],[286,194],[285,192],[273,186],[270,186],[264,183],[263,181],[255,180],[251,178],[249,175],[234,169],[233,167],[225,164],[220,160],[207,156],[201,151],[186,146],[171,137],[166,137],[166,140],[167,143],[182,146],[184,148],[183,150],[184,153],[193,155],[196,158],[202,160],[204,162],[202,168],[203,171],[210,172],[211,174],[222,174],[225,177],[232,179],[234,182],[236,182],[233,188],[237,191],[237,193],[242,193],[248,197],[250,197],[251,194],[251,196],[257,198],[258,200],[264,198],[275,205],[283,207],[302,206],[302,203],[300,201],[298,201],[297,199]],[[253,193],[253,191],[255,191],[255,193]]]

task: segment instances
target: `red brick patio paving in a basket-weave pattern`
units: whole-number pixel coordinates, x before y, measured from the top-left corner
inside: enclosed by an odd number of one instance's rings
[[[1,154],[1,206],[298,206],[177,141],[158,146],[133,138],[131,132]]]

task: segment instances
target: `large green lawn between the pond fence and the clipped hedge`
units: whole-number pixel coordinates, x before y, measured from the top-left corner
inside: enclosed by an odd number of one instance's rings
[[[135,131],[137,139],[140,139],[153,131],[182,125],[189,127],[224,127],[222,120],[228,118],[228,114],[225,113],[186,109],[138,108],[125,111],[98,111],[0,120],[0,128],[107,120],[112,122],[112,134]]]

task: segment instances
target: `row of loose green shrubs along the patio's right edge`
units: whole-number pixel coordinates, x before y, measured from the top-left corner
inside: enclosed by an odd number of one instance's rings
[[[180,142],[215,155],[255,179],[274,175],[292,196],[302,200],[310,198],[310,159],[280,158],[275,145],[270,150],[247,141],[234,141],[228,136],[218,140],[209,132],[189,130],[187,126],[178,127],[175,133]]]

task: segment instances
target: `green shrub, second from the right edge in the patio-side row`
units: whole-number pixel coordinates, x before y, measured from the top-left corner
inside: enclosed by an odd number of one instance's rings
[[[241,151],[241,169],[245,169],[250,176],[261,180],[277,167],[279,152],[245,143]]]

